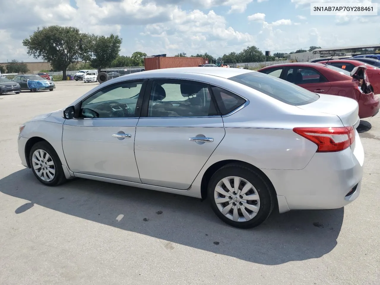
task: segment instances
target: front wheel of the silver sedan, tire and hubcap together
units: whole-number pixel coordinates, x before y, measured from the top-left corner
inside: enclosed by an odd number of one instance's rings
[[[30,166],[38,181],[56,186],[66,181],[57,152],[46,141],[37,142],[29,153]]]

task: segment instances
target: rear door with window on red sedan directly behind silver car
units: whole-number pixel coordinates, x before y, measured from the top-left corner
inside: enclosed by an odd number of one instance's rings
[[[314,93],[328,94],[331,83],[315,68],[288,67],[283,79]]]

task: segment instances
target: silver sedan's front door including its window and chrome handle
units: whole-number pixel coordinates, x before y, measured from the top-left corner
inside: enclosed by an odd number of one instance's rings
[[[118,82],[79,103],[77,118],[63,124],[63,152],[71,171],[141,182],[133,148],[145,85]]]

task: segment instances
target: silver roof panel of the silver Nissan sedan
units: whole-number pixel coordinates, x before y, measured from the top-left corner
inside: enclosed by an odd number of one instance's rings
[[[162,74],[168,74],[168,73],[180,73],[180,74],[187,74],[187,73],[193,73],[193,74],[204,74],[204,75],[211,75],[211,76],[217,76],[222,78],[230,78],[233,76],[237,76],[239,74],[252,72],[252,70],[246,70],[246,69],[240,69],[240,68],[215,68],[215,67],[176,67],[176,68],[162,68],[162,69],[155,69],[155,70],[146,70],[141,72],[136,72],[134,74],[144,74],[141,77],[155,77],[155,76],[161,76]]]

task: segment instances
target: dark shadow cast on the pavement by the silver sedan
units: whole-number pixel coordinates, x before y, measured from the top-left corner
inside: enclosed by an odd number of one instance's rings
[[[58,187],[40,184],[30,169],[0,179],[0,191],[29,202],[14,209],[25,215],[35,204],[104,225],[157,237],[173,249],[182,244],[260,264],[318,258],[337,244],[344,209],[272,214],[250,230],[220,221],[208,201],[87,179]],[[94,233],[95,234],[95,233]]]

